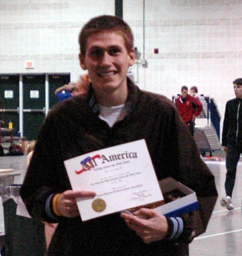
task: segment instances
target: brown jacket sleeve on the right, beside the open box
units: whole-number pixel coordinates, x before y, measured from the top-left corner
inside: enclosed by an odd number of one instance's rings
[[[166,176],[171,176],[196,192],[199,209],[181,217],[184,229],[177,242],[190,243],[195,236],[206,231],[209,219],[217,200],[215,178],[200,157],[196,143],[187,126],[174,108],[173,120],[166,126],[167,150]]]

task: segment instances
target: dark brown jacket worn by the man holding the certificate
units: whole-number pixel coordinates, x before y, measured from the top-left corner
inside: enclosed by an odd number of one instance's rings
[[[165,96],[142,91],[129,79],[128,88],[127,115],[112,128],[98,117],[91,86],[55,106],[41,127],[20,194],[32,217],[59,223],[48,256],[188,255],[188,243],[206,230],[217,190],[187,126]],[[145,244],[120,214],[87,222],[46,214],[46,199],[71,189],[64,160],[140,139],[146,140],[158,180],[171,176],[197,193],[200,209],[181,216],[179,238]]]

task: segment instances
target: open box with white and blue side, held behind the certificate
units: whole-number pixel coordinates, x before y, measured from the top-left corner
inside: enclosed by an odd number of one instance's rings
[[[166,217],[177,217],[199,209],[196,193],[181,182],[168,177],[160,180],[159,184],[166,201],[155,208],[161,214]]]

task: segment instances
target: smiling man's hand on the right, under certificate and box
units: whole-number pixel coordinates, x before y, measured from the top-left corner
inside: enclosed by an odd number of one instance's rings
[[[164,215],[159,214],[156,210],[146,208],[134,212],[134,215],[122,213],[121,217],[145,243],[161,240],[166,236],[168,223]]]

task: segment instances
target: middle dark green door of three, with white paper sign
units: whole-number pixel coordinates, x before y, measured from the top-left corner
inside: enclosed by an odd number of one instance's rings
[[[23,75],[23,134],[36,140],[45,118],[45,75]]]

